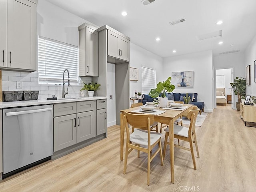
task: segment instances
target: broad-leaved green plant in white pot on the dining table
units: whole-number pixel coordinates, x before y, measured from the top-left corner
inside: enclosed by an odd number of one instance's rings
[[[172,92],[175,89],[175,86],[171,84],[171,77],[168,77],[166,81],[158,82],[156,88],[151,89],[149,95],[153,98],[159,97],[159,107],[167,107],[166,92]]]

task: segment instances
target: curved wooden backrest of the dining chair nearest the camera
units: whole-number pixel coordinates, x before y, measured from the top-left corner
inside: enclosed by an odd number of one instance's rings
[[[148,144],[150,145],[150,125],[154,123],[154,116],[150,114],[134,114],[129,112],[124,112],[124,126],[126,128],[126,139],[130,140],[130,131],[128,124],[136,128],[141,128],[148,130]]]

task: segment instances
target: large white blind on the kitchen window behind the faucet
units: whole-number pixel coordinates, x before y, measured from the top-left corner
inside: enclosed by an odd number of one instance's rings
[[[38,37],[38,79],[40,84],[62,84],[68,69],[70,83],[78,84],[78,47]],[[65,80],[68,73],[65,72]]]

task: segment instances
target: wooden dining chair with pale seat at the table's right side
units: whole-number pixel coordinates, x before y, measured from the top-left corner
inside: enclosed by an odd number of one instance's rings
[[[196,141],[196,131],[195,131],[196,118],[197,118],[199,110],[200,109],[198,107],[194,106],[193,109],[188,112],[188,119],[190,120],[189,128],[175,124],[174,130],[173,130],[174,138],[178,139],[178,145],[174,144],[174,147],[178,147],[178,148],[182,148],[184,150],[191,151],[192,160],[193,160],[195,170],[196,170],[196,160],[195,160],[192,144],[195,143],[197,157],[200,158],[197,141]],[[165,158],[167,144],[170,145],[170,142],[167,142],[168,136],[169,136],[169,128],[166,128],[164,131],[166,132],[165,139],[164,139],[164,152],[163,152],[163,157]],[[180,140],[189,142],[190,148],[180,146]]]

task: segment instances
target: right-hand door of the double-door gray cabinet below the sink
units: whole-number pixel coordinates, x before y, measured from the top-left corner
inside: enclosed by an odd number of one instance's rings
[[[77,142],[96,136],[96,118],[94,111],[77,114]]]

